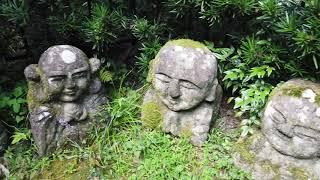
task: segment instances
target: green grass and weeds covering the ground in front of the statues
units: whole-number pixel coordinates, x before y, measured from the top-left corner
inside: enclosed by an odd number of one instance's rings
[[[75,145],[50,158],[38,158],[32,143],[12,146],[5,154],[12,178],[250,179],[232,161],[239,133],[215,129],[203,147],[194,147],[186,139],[142,127],[142,93],[126,90],[125,94],[115,96],[101,111],[112,123],[95,129],[87,147]]]

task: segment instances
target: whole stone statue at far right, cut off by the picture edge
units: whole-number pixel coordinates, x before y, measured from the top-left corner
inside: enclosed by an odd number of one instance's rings
[[[275,88],[262,134],[238,145],[238,162],[255,179],[320,179],[320,84],[294,79]]]

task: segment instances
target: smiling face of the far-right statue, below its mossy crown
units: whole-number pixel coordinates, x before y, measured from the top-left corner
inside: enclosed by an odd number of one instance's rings
[[[270,144],[285,155],[319,157],[320,108],[307,99],[277,98],[264,113],[263,131]]]

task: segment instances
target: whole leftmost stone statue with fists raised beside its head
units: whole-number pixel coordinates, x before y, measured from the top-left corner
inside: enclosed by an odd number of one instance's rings
[[[80,49],[57,45],[25,69],[29,120],[40,155],[71,141],[85,142],[92,114],[107,101],[95,76],[99,66],[98,59],[88,59]]]

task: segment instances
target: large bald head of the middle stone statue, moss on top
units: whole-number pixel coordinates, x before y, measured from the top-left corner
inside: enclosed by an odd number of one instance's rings
[[[169,41],[153,60],[149,76],[160,100],[172,111],[192,109],[215,98],[217,61],[204,45],[195,43]]]

